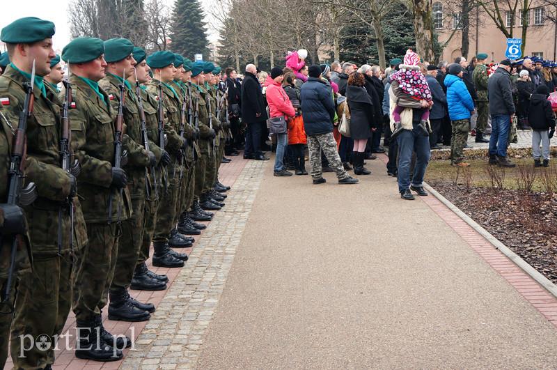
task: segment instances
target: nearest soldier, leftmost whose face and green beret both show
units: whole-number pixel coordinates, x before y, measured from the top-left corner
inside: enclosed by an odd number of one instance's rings
[[[74,202],[76,215],[81,215],[74,199],[77,181],[61,168],[59,102],[44,81],[56,56],[53,35],[54,24],[36,17],[16,20],[0,34],[11,61],[0,77],[0,100],[8,121],[17,125],[26,97],[24,84],[33,84],[35,98],[27,118],[25,164],[26,180],[35,183],[38,190],[36,201],[25,207],[34,262],[32,273],[22,277],[17,289],[11,330],[15,369],[42,369],[54,363],[54,348],[40,350],[26,341],[40,334],[54,340],[61,334],[70,312],[72,253],[87,241],[86,234],[70,224],[66,205]],[[36,75],[31,81],[33,72]]]

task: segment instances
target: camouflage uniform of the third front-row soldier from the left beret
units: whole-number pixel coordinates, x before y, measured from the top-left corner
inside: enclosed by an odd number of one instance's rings
[[[122,78],[107,73],[107,77],[99,81],[99,86],[109,94],[112,112],[118,112],[120,100],[119,84]],[[111,289],[128,288],[134,276],[134,269],[143,240],[143,221],[145,213],[146,178],[145,169],[149,164],[148,154],[139,146],[141,143],[141,118],[139,107],[132,86],[126,81],[125,98],[123,104],[125,122],[125,142],[127,146],[133,145],[136,151],[143,153],[143,158],[130,160],[124,167],[127,174],[127,190],[132,200],[132,215],[122,222],[122,235],[118,242],[118,257]],[[138,148],[139,147],[139,148]]]

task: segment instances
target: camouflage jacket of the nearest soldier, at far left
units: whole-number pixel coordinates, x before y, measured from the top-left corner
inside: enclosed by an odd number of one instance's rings
[[[8,99],[4,105],[6,117],[14,125],[19,121],[23,109],[27,78],[10,65],[0,76],[0,98]],[[70,177],[61,166],[60,148],[60,100],[54,90],[46,88],[46,98],[35,88],[33,114],[27,119],[26,181],[35,183],[38,199],[25,207],[29,222],[29,235],[33,254],[52,255],[58,253],[58,210],[70,194]],[[79,214],[79,210],[78,210]],[[62,213],[61,252],[70,249],[70,215]],[[77,233],[75,242],[81,246],[86,242],[84,233]]]

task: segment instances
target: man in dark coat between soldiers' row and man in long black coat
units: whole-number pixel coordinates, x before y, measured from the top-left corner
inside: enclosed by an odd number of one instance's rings
[[[240,113],[242,109],[242,85],[237,82],[237,72],[234,68],[226,68],[226,89],[228,90],[228,116],[230,117],[230,132],[232,140],[229,140],[224,148],[226,155],[238,155],[237,148],[242,146],[242,135],[240,134]]]

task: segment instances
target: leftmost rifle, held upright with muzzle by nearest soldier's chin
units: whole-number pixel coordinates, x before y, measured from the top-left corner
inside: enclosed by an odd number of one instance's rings
[[[25,82],[23,88],[25,90],[25,101],[23,110],[19,113],[17,129],[13,138],[12,155],[10,158],[10,168],[8,169],[8,201],[7,208],[10,211],[17,212],[23,217],[23,211],[19,206],[29,206],[37,199],[37,187],[34,183],[27,184],[23,187],[24,164],[27,154],[27,139],[25,132],[27,130],[27,119],[33,114],[33,103],[35,95],[33,86],[35,84],[35,61],[33,60],[33,68],[31,70],[31,82]],[[13,273],[15,268],[15,252],[17,250],[17,242],[21,241],[22,233],[13,236],[12,248],[10,250],[10,267],[8,268],[8,279],[6,281],[6,293],[2,298],[5,302],[10,297],[10,287],[12,285]]]

